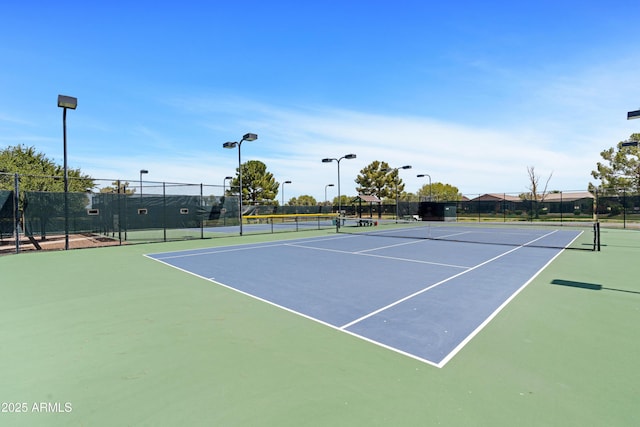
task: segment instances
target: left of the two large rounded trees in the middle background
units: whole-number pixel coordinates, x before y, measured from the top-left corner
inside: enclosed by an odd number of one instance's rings
[[[242,200],[252,204],[272,203],[278,194],[280,184],[271,172],[267,172],[267,165],[259,160],[249,160],[240,165],[242,168]],[[240,179],[236,168],[236,177],[231,180],[227,195],[234,195],[233,188],[238,188]]]

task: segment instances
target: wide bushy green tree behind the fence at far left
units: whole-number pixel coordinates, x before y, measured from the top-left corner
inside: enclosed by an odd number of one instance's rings
[[[22,191],[64,191],[64,167],[56,165],[34,147],[9,146],[0,151],[0,172],[20,175]],[[93,178],[80,169],[67,168],[69,192],[86,193],[95,187]],[[12,190],[13,177],[0,176],[0,189]]]

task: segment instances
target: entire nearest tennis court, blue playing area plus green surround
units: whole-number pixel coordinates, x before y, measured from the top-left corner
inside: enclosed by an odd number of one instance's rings
[[[638,231],[604,229],[596,252],[543,247],[564,228],[526,246],[375,228],[0,257],[0,424],[640,423]],[[531,273],[507,288],[515,262]],[[402,347],[454,331],[442,353]]]

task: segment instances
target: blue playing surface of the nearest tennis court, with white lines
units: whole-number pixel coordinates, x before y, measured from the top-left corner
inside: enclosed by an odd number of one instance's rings
[[[148,255],[431,365],[444,366],[579,231],[520,245],[341,235]]]

